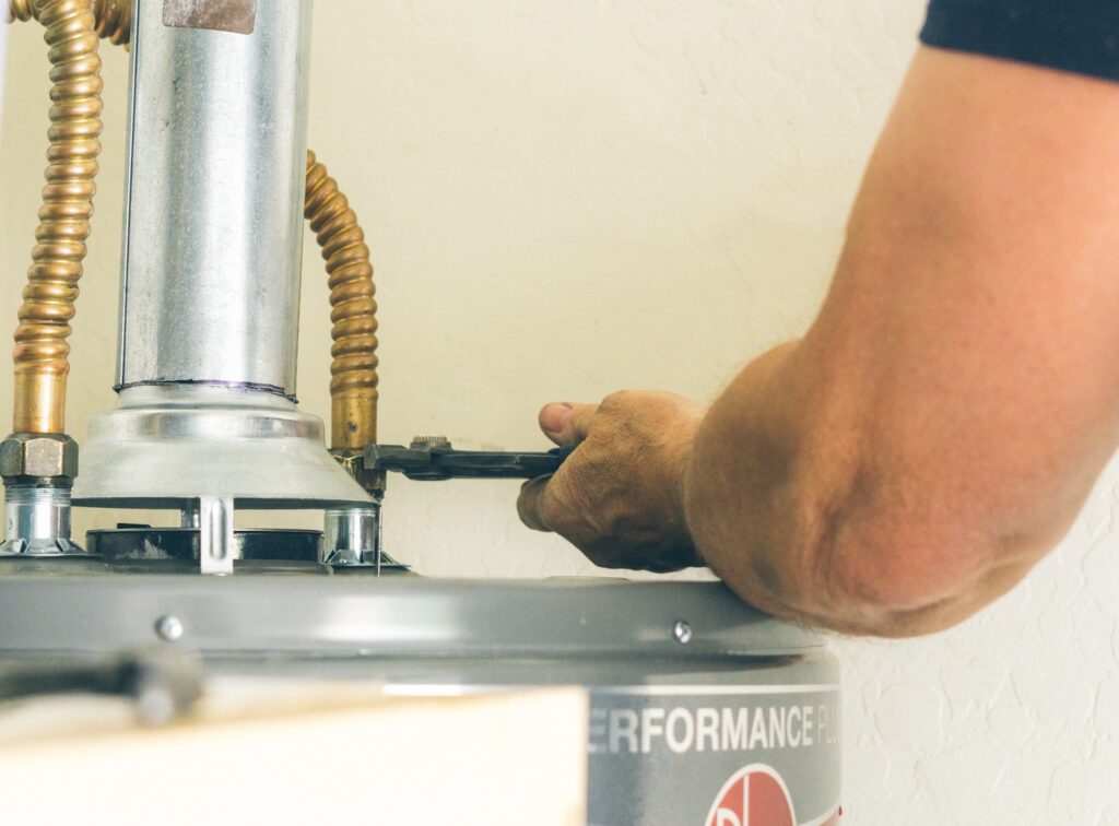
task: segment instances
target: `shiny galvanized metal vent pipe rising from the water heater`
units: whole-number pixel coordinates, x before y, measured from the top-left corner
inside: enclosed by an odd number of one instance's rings
[[[120,389],[295,395],[311,3],[247,4],[250,32],[134,6]]]

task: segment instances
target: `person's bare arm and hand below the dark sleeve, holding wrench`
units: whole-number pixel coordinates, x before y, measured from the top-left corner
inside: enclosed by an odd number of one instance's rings
[[[853,633],[952,626],[1068,532],[1119,445],[1119,84],[922,47],[806,336],[709,409],[548,405],[518,509],[594,562],[709,565]]]

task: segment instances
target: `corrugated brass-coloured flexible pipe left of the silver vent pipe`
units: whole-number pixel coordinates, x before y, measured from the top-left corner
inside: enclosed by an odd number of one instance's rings
[[[36,245],[16,329],[17,433],[62,433],[66,426],[69,321],[82,278],[101,152],[101,58],[92,0],[16,0],[18,19],[34,16],[49,47],[50,128],[47,184]]]

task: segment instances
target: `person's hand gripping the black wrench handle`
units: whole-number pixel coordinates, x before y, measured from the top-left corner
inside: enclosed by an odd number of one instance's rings
[[[602,404],[548,404],[540,430],[577,444],[553,476],[525,482],[521,522],[554,531],[596,565],[702,565],[684,518],[684,471],[705,409],[673,393],[627,391]]]

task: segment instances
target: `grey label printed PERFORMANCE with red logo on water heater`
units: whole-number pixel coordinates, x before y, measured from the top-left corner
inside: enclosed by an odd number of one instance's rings
[[[837,685],[591,689],[594,826],[836,823]]]

